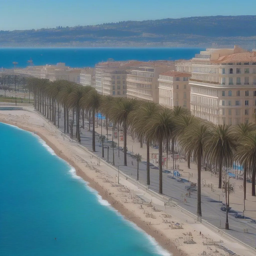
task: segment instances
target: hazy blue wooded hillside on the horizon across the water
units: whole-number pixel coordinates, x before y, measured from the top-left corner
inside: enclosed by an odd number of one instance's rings
[[[123,21],[95,26],[0,31],[0,46],[255,47],[256,16]]]

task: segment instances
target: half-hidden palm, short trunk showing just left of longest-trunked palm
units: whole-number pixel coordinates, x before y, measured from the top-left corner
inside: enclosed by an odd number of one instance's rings
[[[194,115],[181,115],[177,119],[177,131],[179,132],[178,137],[181,138],[184,136],[185,130],[192,125],[195,122],[198,122],[198,117]],[[188,168],[190,169],[190,157],[191,152],[188,152],[187,154],[187,163]]]

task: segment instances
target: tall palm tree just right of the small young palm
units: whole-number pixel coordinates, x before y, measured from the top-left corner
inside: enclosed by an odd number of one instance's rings
[[[154,113],[159,111],[159,105],[153,102],[144,102],[141,104],[140,108],[136,109],[131,113],[131,131],[138,135],[138,137],[143,137],[146,139],[147,146],[147,185],[150,185],[150,162],[149,162],[149,149],[152,138],[147,136],[145,131],[145,126],[148,123]]]

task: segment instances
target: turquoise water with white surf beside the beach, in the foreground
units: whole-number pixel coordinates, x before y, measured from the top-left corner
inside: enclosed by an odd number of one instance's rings
[[[169,255],[37,135],[0,123],[0,142],[0,255]]]

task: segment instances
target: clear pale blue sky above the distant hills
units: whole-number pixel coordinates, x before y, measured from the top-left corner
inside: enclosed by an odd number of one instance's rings
[[[0,0],[0,30],[215,15],[255,15],[256,0]]]

